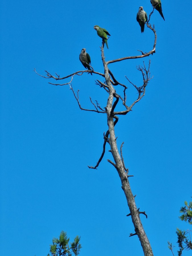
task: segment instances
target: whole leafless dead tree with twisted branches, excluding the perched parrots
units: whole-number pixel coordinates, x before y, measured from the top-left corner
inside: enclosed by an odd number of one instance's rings
[[[153,13],[153,12],[152,12]],[[151,14],[150,13],[150,16]],[[150,19],[149,16],[149,19]],[[129,210],[130,213],[127,214],[127,216],[131,216],[132,218],[132,222],[135,228],[135,232],[134,233],[130,233],[130,237],[137,235],[140,242],[141,242],[141,246],[143,248],[143,252],[145,256],[152,256],[153,252],[152,252],[152,248],[150,246],[149,240],[146,236],[146,233],[144,231],[143,225],[141,223],[141,219],[140,219],[140,214],[144,214],[147,218],[147,215],[145,212],[141,212],[139,210],[139,208],[137,208],[136,203],[135,203],[135,196],[133,196],[132,191],[131,191],[131,187],[129,184],[129,177],[133,176],[133,175],[129,175],[129,170],[128,168],[125,167],[125,163],[124,163],[124,159],[123,159],[123,153],[122,153],[122,147],[123,147],[123,143],[121,144],[120,147],[120,153],[118,151],[117,148],[117,143],[116,143],[116,137],[115,137],[115,130],[114,127],[118,122],[119,116],[120,115],[126,115],[127,113],[129,113],[133,106],[139,102],[141,100],[141,98],[143,98],[143,96],[145,95],[145,90],[146,90],[146,86],[148,84],[148,82],[150,81],[151,77],[150,77],[150,60],[149,60],[149,64],[148,67],[146,67],[146,65],[143,62],[143,66],[139,65],[137,66],[137,70],[141,72],[142,74],[142,85],[141,86],[137,86],[135,84],[133,84],[127,77],[127,80],[129,81],[129,83],[131,83],[135,89],[137,90],[138,93],[138,98],[135,99],[135,101],[128,106],[126,103],[127,100],[127,96],[126,96],[126,90],[127,90],[127,86],[118,82],[115,79],[115,76],[113,75],[113,73],[110,71],[109,69],[109,64],[111,63],[115,63],[117,61],[123,61],[123,60],[128,60],[128,59],[138,59],[138,58],[144,58],[147,57],[149,55],[152,55],[153,53],[155,53],[155,47],[156,47],[156,31],[154,28],[154,25],[152,26],[149,23],[146,23],[146,26],[154,33],[154,45],[151,51],[144,53],[141,50],[138,50],[141,52],[141,55],[137,55],[137,56],[130,56],[130,57],[123,57],[123,58],[119,58],[119,59],[114,59],[114,60],[110,60],[110,61],[105,61],[105,57],[104,57],[104,42],[102,42],[102,47],[101,47],[101,58],[102,58],[102,62],[103,62],[103,66],[104,66],[104,74],[99,73],[94,71],[94,69],[92,68],[92,71],[90,70],[85,70],[85,71],[77,71],[73,74],[67,75],[65,77],[60,78],[59,75],[56,74],[56,76],[51,75],[48,71],[46,72],[46,76],[42,76],[40,74],[38,74],[36,72],[36,70],[34,70],[38,75],[40,75],[41,77],[44,77],[46,79],[55,79],[56,81],[58,80],[65,80],[65,79],[70,79],[70,81],[66,82],[66,83],[51,83],[49,82],[49,84],[53,84],[53,85],[69,85],[70,89],[73,92],[73,95],[75,97],[75,99],[77,100],[77,103],[79,105],[79,108],[81,110],[85,110],[85,111],[92,111],[92,112],[96,112],[96,113],[105,113],[107,115],[107,123],[108,123],[108,131],[106,131],[106,133],[104,133],[104,143],[103,143],[103,151],[102,154],[97,162],[97,164],[95,166],[88,166],[90,169],[97,169],[100,162],[102,161],[102,158],[105,154],[105,150],[106,150],[106,143],[108,143],[110,145],[110,152],[112,153],[113,156],[113,161],[111,160],[107,160],[110,164],[113,165],[113,167],[115,167],[115,169],[117,170],[119,177],[121,179],[121,184],[122,184],[122,189],[125,193],[125,197],[127,199],[127,204],[129,206]],[[92,103],[92,105],[94,106],[93,109],[85,109],[82,108],[80,101],[79,101],[79,90],[77,91],[77,93],[74,91],[73,86],[71,84],[73,77],[75,75],[83,75],[86,72],[92,72],[94,74],[97,74],[101,77],[103,77],[105,79],[105,82],[102,82],[101,80],[95,80],[96,84],[100,87],[102,87],[108,94],[108,99],[107,99],[107,104],[105,108],[101,108],[100,104],[98,103],[98,101],[96,101],[96,103],[94,103],[92,101],[92,99],[90,98],[90,101]],[[122,95],[117,94],[116,90],[115,90],[115,86],[121,86],[122,88]],[[115,111],[115,108],[117,106],[117,104],[119,104],[119,102],[122,103],[123,105],[123,110],[122,111]]]

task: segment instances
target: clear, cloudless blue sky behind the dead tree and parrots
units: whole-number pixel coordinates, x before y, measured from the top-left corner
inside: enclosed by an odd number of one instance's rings
[[[154,78],[115,127],[156,256],[172,255],[167,241],[176,244],[176,227],[187,228],[178,215],[192,196],[189,5],[162,0],[165,21],[154,11]],[[111,154],[98,170],[87,167],[102,152],[106,116],[81,111],[69,86],[50,85],[33,72],[63,77],[83,70],[79,53],[86,48],[94,70],[103,73],[96,24],[111,34],[106,60],[149,51],[154,38],[146,27],[141,34],[139,6],[152,11],[149,0],[1,2],[1,255],[47,255],[61,230],[71,239],[81,236],[81,256],[143,255],[138,238],[129,238],[134,227],[117,171],[106,161]],[[149,58],[110,64],[128,86],[130,103],[137,94],[125,75],[142,84],[136,65],[143,60]],[[106,106],[107,94],[95,79],[86,73],[73,79],[85,108],[91,107],[89,96]]]

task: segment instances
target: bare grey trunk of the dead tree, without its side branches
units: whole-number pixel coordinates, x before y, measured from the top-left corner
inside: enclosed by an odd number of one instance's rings
[[[103,44],[104,46],[104,44]],[[107,122],[108,122],[108,127],[109,127],[109,144],[111,148],[111,152],[113,155],[113,159],[115,163],[112,161],[108,160],[117,170],[119,177],[121,179],[121,184],[122,184],[122,189],[125,193],[125,197],[127,199],[127,204],[129,206],[130,210],[130,215],[132,218],[133,225],[135,227],[135,234],[130,234],[130,236],[137,235],[139,237],[139,240],[141,242],[141,246],[143,248],[143,252],[145,256],[153,256],[152,248],[150,246],[149,240],[146,236],[146,233],[144,231],[143,225],[141,223],[140,219],[140,213],[139,209],[137,209],[136,204],[135,204],[135,198],[131,192],[129,180],[128,180],[128,175],[127,172],[125,171],[125,166],[123,163],[123,160],[121,159],[121,156],[119,154],[118,148],[117,148],[117,143],[115,139],[115,130],[114,130],[114,118],[117,119],[118,117],[114,115],[114,104],[113,104],[113,98],[115,96],[115,89],[113,85],[110,82],[110,76],[109,76],[109,70],[108,70],[108,65],[105,62],[104,58],[104,52],[103,52],[103,46],[102,46],[102,61],[104,65],[104,70],[105,70],[105,80],[106,84],[108,86],[109,90],[109,97],[107,101],[107,106],[106,106],[106,112],[107,112]]]

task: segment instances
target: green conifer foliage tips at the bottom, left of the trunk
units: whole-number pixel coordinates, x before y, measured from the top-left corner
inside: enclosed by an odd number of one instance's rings
[[[52,256],[72,256],[74,253],[77,256],[82,248],[81,244],[79,243],[80,237],[76,236],[74,241],[69,245],[69,239],[67,238],[67,232],[61,231],[61,234],[58,238],[53,238],[53,244],[50,244],[50,253]],[[50,256],[48,253],[47,256]]]

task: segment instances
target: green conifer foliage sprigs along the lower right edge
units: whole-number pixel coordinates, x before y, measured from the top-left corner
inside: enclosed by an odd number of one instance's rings
[[[189,205],[187,201],[185,201],[185,206],[181,207],[180,213],[182,213],[181,216],[179,216],[180,220],[184,220],[185,222],[188,222],[190,225],[192,224],[192,202],[189,202]],[[191,230],[181,230],[179,228],[176,229],[176,234],[177,234],[177,243],[179,247],[179,251],[177,251],[178,256],[182,255],[182,251],[185,249],[186,251],[192,250],[192,242],[191,242],[191,235],[190,235]],[[173,253],[173,248],[175,246],[172,245],[168,241],[168,248],[172,251]]]

